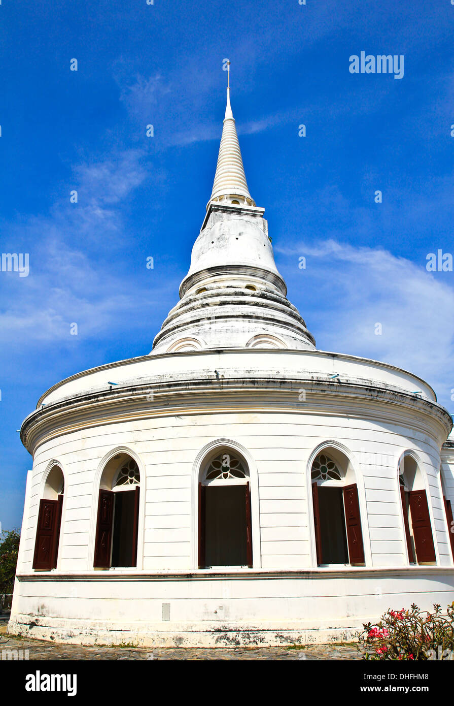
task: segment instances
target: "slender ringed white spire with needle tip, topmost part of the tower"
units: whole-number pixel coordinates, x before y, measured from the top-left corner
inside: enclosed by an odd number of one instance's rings
[[[218,163],[210,201],[244,203],[245,200],[248,205],[255,205],[247,188],[235,118],[233,117],[230,102],[230,61],[227,64],[227,71],[226,116],[223,121],[221,145],[219,147]],[[240,197],[239,202],[238,198],[235,198],[238,196]]]

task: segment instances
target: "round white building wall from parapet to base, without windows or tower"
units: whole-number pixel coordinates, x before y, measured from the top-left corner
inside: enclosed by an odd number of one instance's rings
[[[265,644],[323,641],[350,638],[391,604],[430,607],[454,599],[439,475],[450,422],[428,385],[391,366],[311,352],[202,352],[157,356],[155,364],[154,375],[134,376],[110,392],[99,393],[97,385],[118,380],[112,369],[75,376],[25,420],[34,463],[12,632],[205,645],[219,644],[216,630],[225,627],[223,644],[238,635],[246,640],[247,630]],[[149,365],[140,359],[118,369],[139,366],[136,374]],[[343,376],[333,381],[333,372]],[[417,389],[419,398],[412,395]],[[254,566],[230,570],[235,580],[229,570],[197,568],[197,459],[216,443],[243,453],[250,469]],[[325,444],[350,460],[364,567],[317,567],[309,469]],[[94,571],[99,480],[120,451],[141,473],[137,568]],[[408,564],[398,484],[408,451],[427,491],[436,566]],[[55,463],[65,477],[59,559],[56,570],[39,574],[32,570],[39,499]],[[166,602],[172,618],[163,626]]]

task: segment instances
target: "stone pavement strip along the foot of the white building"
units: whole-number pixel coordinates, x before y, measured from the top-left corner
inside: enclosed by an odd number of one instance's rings
[[[0,657],[3,650],[29,650],[28,658],[33,660],[149,660],[149,659],[359,659],[355,645],[312,645],[311,647],[218,647],[204,649],[187,647],[82,647],[81,645],[54,645],[44,640],[14,638],[6,634],[6,618],[0,616]],[[20,654],[20,653],[19,653]],[[23,654],[23,653],[22,653]],[[5,652],[3,659],[8,659]]]

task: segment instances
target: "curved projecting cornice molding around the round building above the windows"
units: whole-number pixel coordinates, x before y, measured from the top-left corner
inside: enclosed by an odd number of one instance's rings
[[[305,400],[300,399],[302,390]],[[150,393],[153,399],[150,400]],[[443,407],[390,388],[359,382],[327,381],[301,376],[221,376],[188,373],[179,379],[149,381],[112,390],[97,390],[50,403],[24,421],[20,438],[34,454],[38,445],[63,434],[93,426],[175,415],[232,412],[286,412],[369,419],[380,424],[408,426],[430,436],[436,448],[450,430]]]

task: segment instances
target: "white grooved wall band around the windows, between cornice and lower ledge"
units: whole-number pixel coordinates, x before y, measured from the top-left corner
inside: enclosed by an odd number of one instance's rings
[[[407,563],[397,469],[402,453],[412,450],[427,483],[438,563],[450,566],[438,479],[439,453],[429,438],[421,436],[403,427],[384,429],[373,421],[346,421],[333,414],[327,419],[315,414],[266,412],[168,416],[68,433],[47,441],[35,455],[20,570],[32,567],[39,498],[54,462],[65,475],[58,569],[92,568],[100,473],[104,457],[119,448],[133,453],[144,474],[141,568],[196,568],[191,564],[191,525],[195,521],[192,468],[200,450],[221,438],[244,447],[253,461],[251,472],[257,469],[259,497],[252,498],[259,509],[255,530],[260,537],[254,547],[260,551],[259,557],[254,556],[257,566],[260,559],[263,568],[314,566],[307,464],[314,450],[329,440],[345,448],[355,468],[367,565]]]

